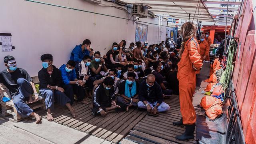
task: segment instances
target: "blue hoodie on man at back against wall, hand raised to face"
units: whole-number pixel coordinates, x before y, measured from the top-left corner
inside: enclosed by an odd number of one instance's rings
[[[82,44],[79,44],[72,50],[70,60],[74,60],[78,63],[81,62],[86,55],[90,56],[89,50],[85,49],[84,52],[82,52]]]

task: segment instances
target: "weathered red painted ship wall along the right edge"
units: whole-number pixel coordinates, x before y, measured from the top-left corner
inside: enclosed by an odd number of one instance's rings
[[[238,48],[233,83],[246,144],[256,144],[256,30],[252,0],[244,0],[233,24]]]

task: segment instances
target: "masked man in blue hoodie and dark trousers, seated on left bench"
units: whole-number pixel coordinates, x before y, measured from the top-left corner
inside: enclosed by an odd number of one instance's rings
[[[84,90],[83,90],[83,85],[84,81],[83,80],[78,80],[76,78],[76,70],[74,67],[76,66],[76,63],[74,60],[69,60],[67,64],[63,64],[60,67],[61,71],[61,77],[62,77],[62,87],[65,90],[66,96],[70,98],[71,102],[70,104],[72,105],[74,102],[74,94],[76,94],[76,98],[78,103],[84,103]]]

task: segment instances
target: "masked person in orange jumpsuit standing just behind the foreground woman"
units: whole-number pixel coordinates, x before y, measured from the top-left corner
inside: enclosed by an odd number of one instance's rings
[[[208,43],[205,40],[205,36],[204,34],[202,34],[200,36],[200,40],[198,41],[199,43],[199,47],[200,47],[200,56],[201,56],[201,60],[206,60],[207,55],[209,55],[209,46]]]

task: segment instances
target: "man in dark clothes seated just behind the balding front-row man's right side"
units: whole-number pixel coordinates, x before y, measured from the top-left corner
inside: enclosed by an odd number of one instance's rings
[[[172,90],[166,89],[166,87],[164,86],[164,77],[162,76],[162,74],[160,74],[160,72],[164,69],[164,65],[162,65],[160,61],[156,61],[153,64],[153,69],[155,71],[152,72],[152,74],[154,74],[154,76],[156,77],[156,82],[161,86],[163,94],[172,95]]]

